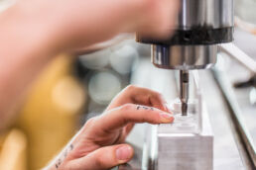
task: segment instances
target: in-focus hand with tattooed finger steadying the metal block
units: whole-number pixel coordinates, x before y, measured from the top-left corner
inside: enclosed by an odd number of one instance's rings
[[[133,148],[123,142],[134,123],[158,125],[173,121],[159,93],[129,86],[101,116],[81,128],[52,168],[98,170],[126,163],[133,156]]]

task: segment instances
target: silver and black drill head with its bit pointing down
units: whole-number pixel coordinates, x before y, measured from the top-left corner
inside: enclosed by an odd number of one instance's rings
[[[216,62],[217,44],[233,41],[233,0],[180,0],[175,34],[165,40],[137,35],[152,44],[152,62],[180,70],[182,115],[188,115],[190,70],[210,68]]]

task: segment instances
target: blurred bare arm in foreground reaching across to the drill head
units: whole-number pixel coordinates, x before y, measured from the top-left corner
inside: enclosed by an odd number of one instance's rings
[[[167,36],[177,11],[177,0],[18,1],[0,15],[0,129],[55,55],[123,32]]]

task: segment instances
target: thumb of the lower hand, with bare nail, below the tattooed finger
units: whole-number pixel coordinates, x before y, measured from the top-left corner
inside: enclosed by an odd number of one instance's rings
[[[75,170],[110,169],[128,162],[133,153],[133,148],[128,144],[106,146],[89,153],[85,157],[71,161],[66,166]]]

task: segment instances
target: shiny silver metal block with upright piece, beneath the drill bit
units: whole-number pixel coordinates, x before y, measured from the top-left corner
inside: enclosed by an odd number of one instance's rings
[[[181,103],[170,103],[175,123],[149,127],[143,150],[142,169],[210,170],[213,169],[213,134],[205,105],[201,100],[197,72],[192,73],[190,112],[181,115]]]

